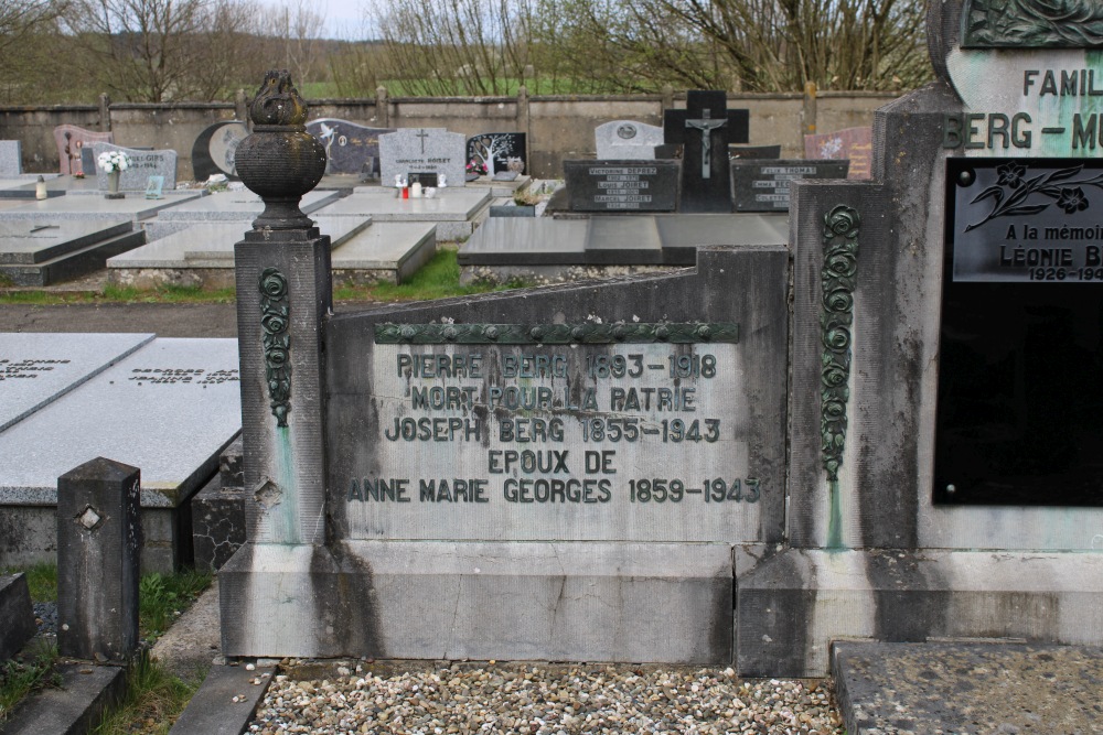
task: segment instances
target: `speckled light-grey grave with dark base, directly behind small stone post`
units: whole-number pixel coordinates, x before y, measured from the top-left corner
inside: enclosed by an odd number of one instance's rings
[[[233,339],[154,339],[0,432],[13,458],[0,467],[0,564],[52,559],[57,477],[98,456],[141,468],[144,569],[189,561],[188,500],[240,428],[237,372]]]

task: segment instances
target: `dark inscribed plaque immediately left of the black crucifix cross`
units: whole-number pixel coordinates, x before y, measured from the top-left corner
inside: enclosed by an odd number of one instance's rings
[[[564,161],[572,212],[674,212],[675,161]]]

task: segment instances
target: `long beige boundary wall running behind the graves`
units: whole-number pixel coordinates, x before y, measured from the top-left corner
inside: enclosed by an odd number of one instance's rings
[[[750,144],[781,143],[782,158],[802,158],[804,132],[831,132],[872,125],[874,110],[895,93],[822,91],[817,95],[728,94],[728,108],[750,109]],[[245,118],[247,99],[235,101],[0,107],[0,140],[22,141],[23,170],[58,170],[53,130],[63,123],[111,130],[126,147],[174,149],[178,179],[192,179],[192,143],[208,125]],[[473,136],[480,132],[528,133],[528,172],[561,177],[565,159],[595,155],[593,129],[610,120],[662,125],[663,109],[684,107],[685,95],[555,95],[529,97],[393,97],[308,100],[311,118],[343,118],[373,127],[433,127]]]

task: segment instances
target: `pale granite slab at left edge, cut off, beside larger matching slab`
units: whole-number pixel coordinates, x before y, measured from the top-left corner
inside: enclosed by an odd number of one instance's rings
[[[0,432],[152,339],[151,334],[0,333]]]

